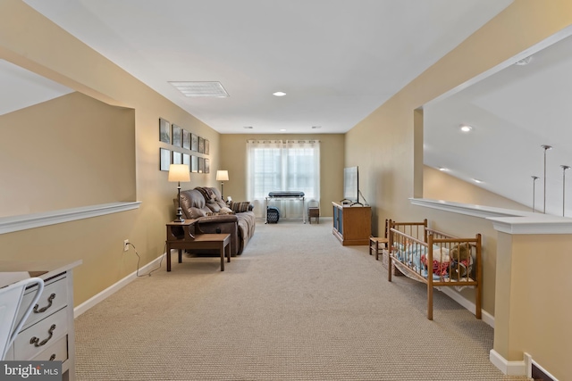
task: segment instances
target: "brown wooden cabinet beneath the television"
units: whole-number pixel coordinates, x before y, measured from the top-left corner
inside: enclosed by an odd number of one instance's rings
[[[369,244],[372,235],[372,208],[332,203],[332,233],[344,246]]]

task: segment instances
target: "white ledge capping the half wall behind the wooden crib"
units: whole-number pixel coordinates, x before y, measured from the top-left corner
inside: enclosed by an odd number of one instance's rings
[[[413,205],[425,208],[489,219],[493,228],[503,233],[515,235],[572,234],[572,219],[568,217],[426,198],[409,198],[409,201]]]

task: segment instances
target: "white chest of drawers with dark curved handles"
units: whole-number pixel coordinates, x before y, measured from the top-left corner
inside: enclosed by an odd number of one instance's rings
[[[75,380],[73,274],[81,261],[0,261],[2,271],[28,271],[44,279],[38,304],[21,328],[5,360],[60,360],[63,380]],[[24,293],[29,305],[35,286]],[[21,312],[23,315],[23,312]]]

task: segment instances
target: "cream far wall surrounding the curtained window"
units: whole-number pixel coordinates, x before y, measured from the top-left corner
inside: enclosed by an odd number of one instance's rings
[[[332,201],[343,198],[343,150],[344,135],[261,135],[237,134],[221,136],[221,169],[229,171],[229,181],[224,182],[224,195],[232,200],[247,200],[247,140],[308,140],[320,141],[320,215],[332,217]],[[220,185],[219,185],[220,188]]]

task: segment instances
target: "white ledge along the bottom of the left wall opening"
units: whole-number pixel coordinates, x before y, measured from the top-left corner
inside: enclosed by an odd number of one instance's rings
[[[100,203],[97,205],[81,206],[79,208],[60,209],[41,213],[22,214],[19,216],[0,217],[0,234],[13,233],[29,228],[40,228],[48,225],[61,224],[77,219],[89,219],[105,214],[119,213],[139,209],[140,201],[124,203]]]

